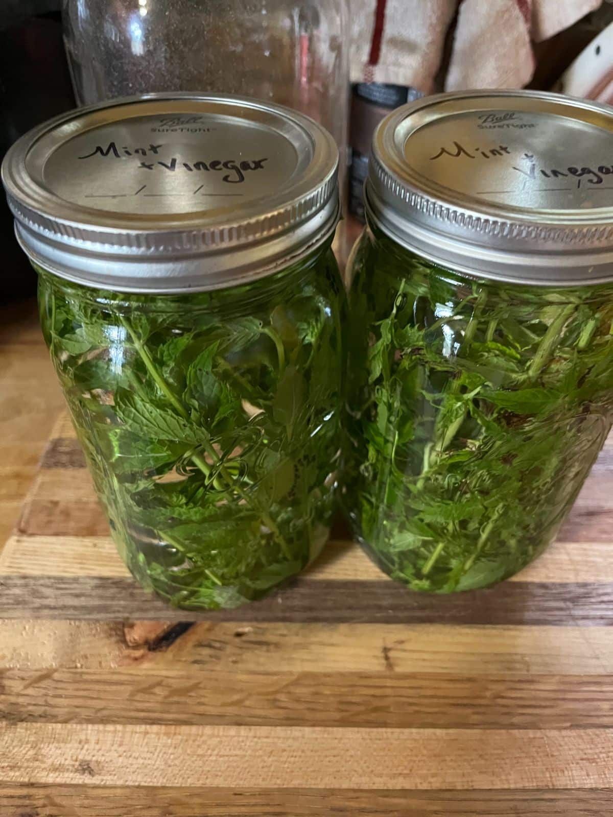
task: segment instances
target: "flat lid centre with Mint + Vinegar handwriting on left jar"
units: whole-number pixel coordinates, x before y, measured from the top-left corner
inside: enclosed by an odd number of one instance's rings
[[[271,127],[215,115],[143,116],[65,141],[43,177],[54,194],[87,208],[172,214],[265,198],[304,163]]]

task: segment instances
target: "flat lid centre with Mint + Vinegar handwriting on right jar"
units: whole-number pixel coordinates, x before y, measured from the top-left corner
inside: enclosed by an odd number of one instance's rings
[[[482,202],[552,211],[613,206],[613,134],[557,114],[455,114],[412,132],[403,154],[420,176]]]

